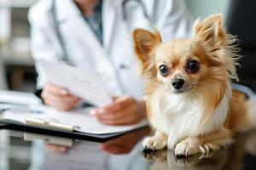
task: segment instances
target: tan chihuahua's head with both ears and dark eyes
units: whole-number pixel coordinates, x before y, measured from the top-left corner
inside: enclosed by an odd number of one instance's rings
[[[158,31],[133,32],[142,75],[174,94],[236,79],[236,38],[224,31],[221,14],[196,20],[193,37],[162,42]]]

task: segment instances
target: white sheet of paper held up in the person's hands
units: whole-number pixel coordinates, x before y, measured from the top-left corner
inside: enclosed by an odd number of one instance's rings
[[[102,75],[96,71],[83,71],[73,66],[52,63],[41,59],[42,68],[47,80],[67,88],[92,105],[108,105],[112,98],[108,94]]]

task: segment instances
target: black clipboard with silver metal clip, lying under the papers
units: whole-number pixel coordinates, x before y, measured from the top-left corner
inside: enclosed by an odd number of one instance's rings
[[[11,119],[0,119],[0,125],[3,128],[10,130],[25,131],[30,133],[42,133],[52,136],[60,136],[74,139],[86,139],[94,142],[105,142],[109,139],[118,137],[119,135],[130,133],[134,130],[142,127],[131,128],[120,132],[109,132],[109,133],[89,133],[79,130],[77,126],[70,126],[67,124],[61,124],[59,122],[46,122],[44,119],[27,117],[25,122],[19,122]]]

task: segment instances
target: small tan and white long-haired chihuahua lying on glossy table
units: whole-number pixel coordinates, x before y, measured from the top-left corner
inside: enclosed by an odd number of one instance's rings
[[[192,38],[172,42],[161,42],[158,31],[133,32],[140,73],[148,80],[148,119],[155,129],[143,141],[146,149],[167,146],[177,156],[206,154],[230,144],[233,133],[256,125],[256,99],[247,101],[230,87],[238,79],[239,55],[221,14],[196,20],[193,30]]]

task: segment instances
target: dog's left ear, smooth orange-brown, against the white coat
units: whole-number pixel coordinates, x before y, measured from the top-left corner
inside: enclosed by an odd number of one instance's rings
[[[137,59],[141,63],[141,74],[148,70],[154,48],[160,44],[161,37],[159,31],[147,31],[136,29],[133,31],[133,41]]]

